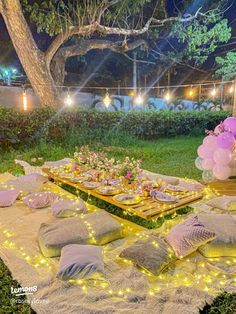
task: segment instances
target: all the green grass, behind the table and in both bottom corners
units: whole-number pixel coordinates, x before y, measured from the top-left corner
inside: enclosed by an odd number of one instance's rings
[[[94,149],[105,149],[109,156],[124,158],[134,157],[142,160],[142,167],[167,175],[200,179],[201,172],[194,166],[196,150],[202,137],[178,137],[143,141],[123,134],[71,134],[62,144],[41,142],[37,146],[2,151],[0,154],[0,172],[22,173],[14,159],[24,159],[33,165],[43,161],[57,160],[73,156],[76,147],[88,144]],[[42,160],[34,160],[42,157]],[[32,161],[33,160],[33,161]],[[0,314],[32,313],[28,305],[11,303],[11,287],[16,287],[6,266],[0,260]],[[201,313],[231,314],[236,311],[235,295],[222,294],[212,306],[207,306]]]

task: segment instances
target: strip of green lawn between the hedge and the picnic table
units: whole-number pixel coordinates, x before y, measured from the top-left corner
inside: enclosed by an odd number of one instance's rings
[[[11,149],[0,154],[0,172],[21,171],[14,164],[15,158],[21,158],[33,165],[40,165],[42,161],[32,162],[33,158],[43,157],[43,160],[57,160],[72,157],[76,147],[89,144],[94,149],[106,150],[109,156],[124,158],[134,157],[142,160],[144,169],[166,175],[200,179],[201,172],[194,166],[197,147],[201,137],[177,137],[171,139],[157,139],[144,141],[134,137],[120,135],[119,137],[91,137],[73,135],[63,144],[40,143],[37,146]]]

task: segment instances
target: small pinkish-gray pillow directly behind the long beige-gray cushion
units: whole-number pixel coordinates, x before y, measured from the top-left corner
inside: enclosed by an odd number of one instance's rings
[[[87,211],[87,207],[81,199],[60,199],[52,204],[52,214],[57,218],[73,217],[81,213],[86,213]]]

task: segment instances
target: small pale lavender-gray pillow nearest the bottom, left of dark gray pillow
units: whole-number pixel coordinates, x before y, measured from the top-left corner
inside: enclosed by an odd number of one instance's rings
[[[57,278],[83,279],[95,273],[104,273],[101,246],[70,244],[63,247]]]

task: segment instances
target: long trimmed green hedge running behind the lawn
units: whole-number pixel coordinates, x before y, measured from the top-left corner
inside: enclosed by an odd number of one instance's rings
[[[41,138],[62,140],[68,132],[125,132],[142,139],[204,134],[229,116],[225,111],[95,111],[37,108],[30,112],[0,107],[0,143],[20,145]]]

